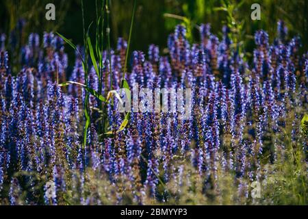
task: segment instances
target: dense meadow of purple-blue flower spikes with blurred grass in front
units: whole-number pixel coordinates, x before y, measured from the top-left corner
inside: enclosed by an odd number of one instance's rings
[[[283,21],[273,42],[255,33],[251,62],[228,27],[218,38],[201,25],[192,43],[177,25],[168,49],[133,51],[125,74],[120,38],[101,53],[101,79],[84,47],[70,66],[55,33],[20,45],[22,25],[0,36],[0,204],[307,205],[308,53]],[[9,54],[18,46],[15,72]],[[123,75],[130,88],[192,89],[190,118],[125,116],[118,99],[101,101]]]

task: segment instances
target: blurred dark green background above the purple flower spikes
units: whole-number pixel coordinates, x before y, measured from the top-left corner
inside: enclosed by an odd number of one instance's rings
[[[99,0],[100,2],[101,0]],[[54,3],[56,20],[44,18],[45,5]],[[251,5],[261,5],[261,21],[251,20]],[[118,37],[128,38],[133,0],[110,0],[112,47]],[[226,6],[231,14],[222,10]],[[283,19],[289,28],[290,36],[299,34],[307,51],[308,41],[308,0],[138,0],[136,21],[131,47],[146,51],[149,44],[166,47],[168,34],[175,25],[188,26],[189,40],[198,41],[196,25],[211,23],[212,32],[220,36],[222,25],[230,23],[230,15],[236,22],[235,37],[244,44],[248,54],[254,47],[253,34],[257,29],[266,29],[272,40],[277,31],[277,21]],[[86,25],[95,21],[95,0],[85,1]],[[169,15],[168,15],[169,14]],[[170,14],[180,16],[170,18]],[[185,18],[184,18],[185,17]],[[9,33],[16,26],[18,18],[25,18],[25,38],[30,32],[59,31],[77,44],[83,41],[81,0],[1,0],[0,32]],[[184,19],[184,21],[183,21]]]

